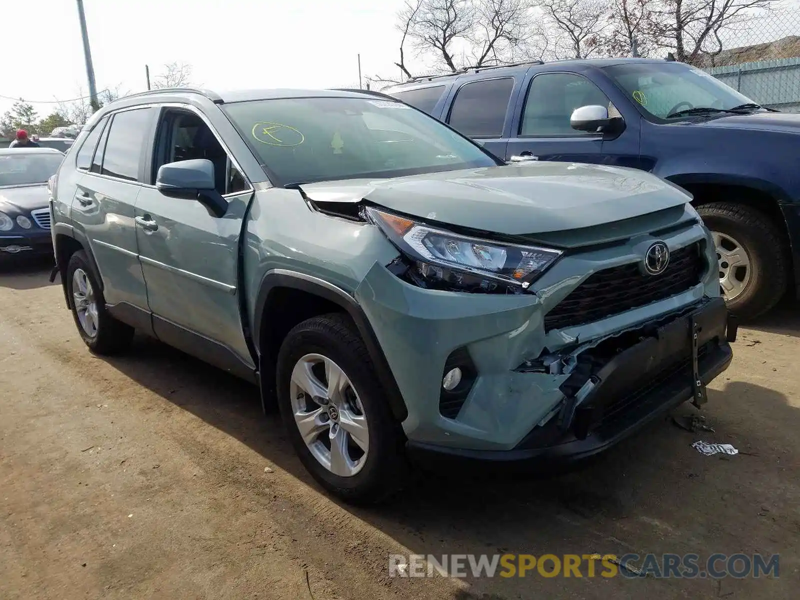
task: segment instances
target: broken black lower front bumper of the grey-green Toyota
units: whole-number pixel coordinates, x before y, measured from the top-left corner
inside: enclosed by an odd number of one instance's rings
[[[736,325],[722,298],[582,346],[527,361],[520,372],[566,374],[563,401],[510,450],[466,450],[410,440],[408,452],[428,468],[466,459],[512,469],[550,468],[613,446],[688,399],[726,370]],[[566,371],[565,371],[566,370]]]

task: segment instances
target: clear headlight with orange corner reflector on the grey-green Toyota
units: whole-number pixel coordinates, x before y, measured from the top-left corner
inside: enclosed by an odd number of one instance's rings
[[[426,287],[514,294],[530,286],[562,255],[550,248],[454,234],[371,207],[366,213],[414,262],[414,282]]]

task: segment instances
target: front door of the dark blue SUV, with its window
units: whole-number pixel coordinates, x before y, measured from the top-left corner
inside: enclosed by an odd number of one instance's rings
[[[573,110],[580,106],[605,106],[611,116],[621,116],[609,98],[589,78],[566,72],[534,72],[515,114],[515,137],[507,148],[507,160],[594,162],[626,166],[638,156],[638,130],[603,134],[574,130]]]

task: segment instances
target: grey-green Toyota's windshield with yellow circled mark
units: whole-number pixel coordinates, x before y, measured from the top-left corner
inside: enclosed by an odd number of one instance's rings
[[[401,102],[281,98],[235,102],[223,109],[281,186],[499,164]]]

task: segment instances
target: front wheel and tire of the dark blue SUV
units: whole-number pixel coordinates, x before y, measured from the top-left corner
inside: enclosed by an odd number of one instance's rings
[[[782,232],[762,212],[736,202],[703,204],[698,213],[714,234],[728,310],[744,320],[766,313],[786,293],[788,261]],[[731,250],[737,245],[749,263],[744,270],[725,261],[726,256],[738,255]],[[726,286],[733,292],[726,291]]]

